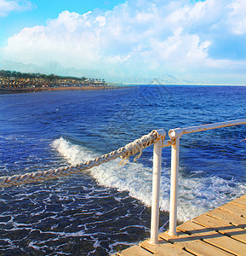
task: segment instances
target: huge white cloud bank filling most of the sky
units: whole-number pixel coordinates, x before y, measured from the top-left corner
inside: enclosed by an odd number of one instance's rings
[[[218,35],[245,34],[245,10],[239,0],[129,0],[100,14],[64,11],[46,26],[25,28],[9,38],[3,55],[11,61],[56,61],[121,76],[235,69],[237,60],[217,60],[209,49],[220,46]]]

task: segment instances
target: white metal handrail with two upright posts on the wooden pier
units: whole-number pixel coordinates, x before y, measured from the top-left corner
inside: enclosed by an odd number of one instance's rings
[[[164,141],[166,132],[157,130],[158,137],[153,149],[153,179],[152,179],[152,224],[151,224],[151,244],[156,244],[158,240],[159,223],[159,198],[161,180],[162,148],[171,146],[171,179],[170,179],[170,209],[169,209],[169,236],[177,234],[177,191],[180,158],[180,137],[184,134],[209,131],[232,125],[246,125],[246,119],[237,119],[209,125],[198,125],[186,128],[176,128],[169,130],[170,140]]]

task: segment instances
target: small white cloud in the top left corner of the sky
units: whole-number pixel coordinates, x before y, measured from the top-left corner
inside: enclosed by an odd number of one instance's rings
[[[32,4],[29,1],[20,1],[20,0],[0,0],[0,17],[9,15],[11,12],[20,12],[27,9],[31,9]]]

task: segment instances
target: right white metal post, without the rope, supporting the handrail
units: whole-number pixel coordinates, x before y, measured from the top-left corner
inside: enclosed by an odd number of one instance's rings
[[[169,210],[169,236],[175,236],[177,226],[177,195],[178,195],[178,174],[180,158],[180,137],[175,138],[172,145],[171,155],[171,189],[170,189],[170,210]]]

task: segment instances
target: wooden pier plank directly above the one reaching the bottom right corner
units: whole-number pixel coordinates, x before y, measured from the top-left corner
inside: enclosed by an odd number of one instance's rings
[[[207,228],[211,228],[215,231],[220,232],[220,234],[231,236],[237,241],[242,241],[246,243],[246,230],[238,228],[232,224],[228,224],[223,220],[218,218],[212,218],[209,215],[203,214],[197,218],[193,218],[192,222],[196,224],[203,225]]]

